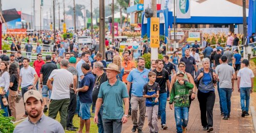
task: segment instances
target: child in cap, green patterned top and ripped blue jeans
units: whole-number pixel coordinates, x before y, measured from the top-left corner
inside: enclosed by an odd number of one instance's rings
[[[188,107],[189,98],[188,91],[191,90],[194,85],[186,80],[183,80],[184,73],[182,71],[177,72],[178,81],[173,85],[172,92],[170,93],[170,109],[174,109],[176,129],[177,132],[185,133],[188,123]]]

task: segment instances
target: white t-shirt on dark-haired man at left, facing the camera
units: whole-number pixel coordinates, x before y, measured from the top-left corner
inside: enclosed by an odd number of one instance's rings
[[[22,84],[20,86],[26,87],[28,85],[33,85],[35,74],[36,74],[35,69],[32,68],[30,65],[28,66],[27,69],[23,67],[19,72],[19,76],[22,77]]]

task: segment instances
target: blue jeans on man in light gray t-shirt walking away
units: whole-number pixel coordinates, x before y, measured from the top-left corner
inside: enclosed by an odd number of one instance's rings
[[[230,115],[230,108],[231,108],[231,94],[232,89],[231,88],[220,88],[220,94],[221,94],[221,104],[224,116]]]

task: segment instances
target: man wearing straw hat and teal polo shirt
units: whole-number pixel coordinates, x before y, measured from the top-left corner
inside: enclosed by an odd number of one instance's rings
[[[104,132],[121,132],[122,124],[127,122],[129,109],[129,95],[125,83],[116,78],[120,74],[118,65],[110,63],[106,70],[108,81],[100,85],[96,101],[94,122],[98,123],[98,113],[102,103]],[[123,115],[124,101],[124,115]]]

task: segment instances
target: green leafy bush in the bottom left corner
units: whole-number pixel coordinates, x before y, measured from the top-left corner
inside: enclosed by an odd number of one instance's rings
[[[13,132],[14,124],[11,122],[13,117],[4,117],[4,110],[0,109],[0,132]]]

